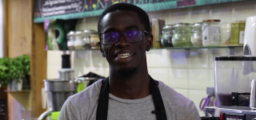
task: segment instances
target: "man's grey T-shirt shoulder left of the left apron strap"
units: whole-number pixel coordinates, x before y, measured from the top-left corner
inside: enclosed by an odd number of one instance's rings
[[[98,103],[102,79],[86,87],[85,90],[71,95],[62,106],[58,119],[90,119]]]

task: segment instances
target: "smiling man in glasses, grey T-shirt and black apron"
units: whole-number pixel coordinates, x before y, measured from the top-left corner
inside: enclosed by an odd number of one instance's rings
[[[59,120],[200,120],[190,99],[148,74],[152,35],[144,10],[126,3],[110,6],[99,18],[98,35],[110,75],[70,96]]]

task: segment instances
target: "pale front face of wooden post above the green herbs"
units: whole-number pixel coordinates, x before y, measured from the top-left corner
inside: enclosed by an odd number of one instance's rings
[[[8,2],[8,56],[32,55],[33,0]]]

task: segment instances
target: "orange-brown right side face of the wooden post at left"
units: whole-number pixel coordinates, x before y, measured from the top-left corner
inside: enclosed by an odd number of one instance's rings
[[[44,87],[43,79],[46,79],[47,69],[47,52],[45,48],[45,36],[43,24],[33,25],[33,42],[32,42],[32,62],[31,71],[31,91],[32,91],[32,117],[38,118],[45,110],[42,109],[41,89]]]

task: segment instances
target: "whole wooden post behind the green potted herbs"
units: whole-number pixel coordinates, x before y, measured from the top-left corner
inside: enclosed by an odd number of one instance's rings
[[[30,56],[31,110],[25,110],[10,94],[8,119],[38,118],[42,114],[41,89],[46,79],[46,52],[42,24],[33,24],[34,0],[3,0],[6,56]]]

